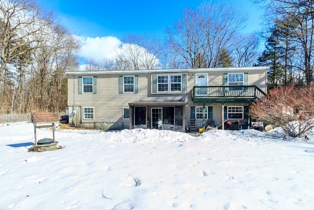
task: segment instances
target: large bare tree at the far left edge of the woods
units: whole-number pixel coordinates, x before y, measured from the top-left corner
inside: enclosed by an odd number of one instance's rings
[[[21,75],[25,75],[22,72],[21,60],[28,60],[30,52],[37,48],[37,38],[47,34],[52,23],[52,13],[39,9],[36,0],[0,1],[0,104],[2,112],[3,107],[8,106],[7,101],[12,90],[9,87],[12,86],[10,82],[16,84],[11,80],[13,77],[8,78],[8,76],[13,74],[18,66]],[[21,88],[20,84],[18,87]],[[15,93],[15,85],[13,90]],[[10,101],[11,104],[14,102],[13,99]]]

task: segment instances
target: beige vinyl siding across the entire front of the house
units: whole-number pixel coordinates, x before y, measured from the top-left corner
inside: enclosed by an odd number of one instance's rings
[[[99,122],[105,118],[111,122],[123,120],[123,107],[129,107],[129,103],[135,101],[178,101],[184,100],[188,106],[184,109],[185,126],[188,126],[191,106],[203,106],[192,102],[192,90],[195,86],[197,73],[208,74],[209,86],[222,86],[224,73],[248,73],[248,85],[256,85],[264,92],[267,91],[267,67],[252,68],[210,68],[210,69],[183,69],[183,70],[143,70],[121,72],[71,72],[68,73],[68,106],[94,107],[94,120],[82,122]],[[153,93],[154,74],[186,74],[186,93]],[[119,93],[119,76],[138,75],[138,93]],[[193,76],[194,75],[194,76]],[[78,94],[78,77],[97,76],[97,93]],[[210,106],[211,104],[206,104]],[[221,122],[221,104],[213,105],[213,120]]]

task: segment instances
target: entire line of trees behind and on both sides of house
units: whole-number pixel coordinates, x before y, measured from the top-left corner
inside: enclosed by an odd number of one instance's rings
[[[85,70],[266,65],[269,89],[313,83],[313,0],[255,0],[264,8],[259,33],[241,32],[247,17],[231,4],[186,8],[165,39],[129,34],[113,59]],[[261,46],[264,41],[265,46]],[[0,1],[0,113],[67,107],[65,71],[78,70],[79,40],[36,0]]]

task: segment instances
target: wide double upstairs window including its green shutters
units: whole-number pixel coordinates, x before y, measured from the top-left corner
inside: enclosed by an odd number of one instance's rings
[[[153,75],[153,92],[185,92],[185,74]]]

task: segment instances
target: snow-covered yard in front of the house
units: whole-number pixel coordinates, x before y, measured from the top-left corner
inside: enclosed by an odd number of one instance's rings
[[[311,210],[314,132],[307,136],[57,129],[63,149],[28,152],[31,123],[0,125],[0,209]]]

